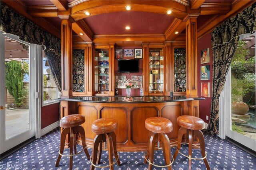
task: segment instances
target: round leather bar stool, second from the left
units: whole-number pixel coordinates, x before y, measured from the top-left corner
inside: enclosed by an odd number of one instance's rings
[[[94,170],[97,168],[107,168],[110,167],[110,170],[114,170],[114,164],[117,162],[118,166],[120,166],[119,154],[116,150],[116,134],[114,131],[117,129],[118,123],[115,119],[111,118],[102,118],[97,119],[92,123],[92,132],[97,133],[96,137],[93,141],[92,147],[92,157],[91,157],[91,168],[90,170]],[[102,142],[106,142],[108,146],[108,166],[96,166],[96,161],[100,164],[100,157],[102,154]],[[97,154],[99,149],[98,160]],[[116,161],[113,162],[113,151]]]

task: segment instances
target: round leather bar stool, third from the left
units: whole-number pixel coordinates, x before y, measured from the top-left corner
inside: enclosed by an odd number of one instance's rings
[[[170,156],[172,156],[170,140],[166,135],[166,133],[172,131],[172,122],[164,117],[149,117],[145,121],[145,127],[150,131],[151,135],[148,140],[148,150],[146,156],[144,154],[144,164],[147,162],[149,163],[148,170],[152,170],[153,165],[159,168],[168,167],[168,170],[172,170],[173,159],[172,162],[170,162]],[[166,163],[165,166],[153,164],[155,143],[158,140],[162,141],[163,155]]]

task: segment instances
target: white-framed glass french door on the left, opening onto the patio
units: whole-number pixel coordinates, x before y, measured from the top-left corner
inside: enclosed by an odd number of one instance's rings
[[[36,77],[38,75],[36,46],[21,41],[16,35],[0,32],[0,106],[6,107],[0,110],[1,154],[36,137],[38,131],[36,120],[38,120],[40,101],[37,95],[39,88]],[[20,70],[23,72],[20,73]],[[22,83],[18,83],[22,84],[21,88],[20,85],[14,86],[13,83],[18,79],[19,74],[24,75]],[[8,83],[13,84],[13,87],[7,88]],[[14,92],[17,89],[22,90]]]

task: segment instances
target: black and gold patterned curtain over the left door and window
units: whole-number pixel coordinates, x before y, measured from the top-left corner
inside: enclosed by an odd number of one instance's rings
[[[45,55],[56,86],[61,92],[61,40],[8,6],[4,4],[0,4],[0,6],[0,29],[2,31],[17,35],[28,43],[46,46]]]

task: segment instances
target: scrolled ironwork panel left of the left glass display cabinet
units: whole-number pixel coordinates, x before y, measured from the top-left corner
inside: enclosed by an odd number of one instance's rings
[[[73,92],[84,92],[84,49],[74,49],[73,53]]]

